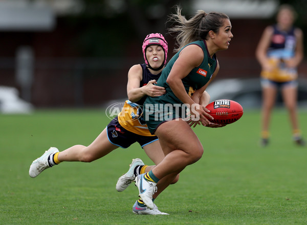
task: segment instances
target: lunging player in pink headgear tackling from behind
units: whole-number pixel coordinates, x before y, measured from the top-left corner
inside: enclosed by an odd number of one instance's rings
[[[164,153],[159,144],[158,137],[150,134],[142,116],[142,106],[146,96],[161,96],[165,94],[165,88],[156,86],[156,80],[166,64],[168,45],[162,34],[148,34],[142,46],[145,59],[144,64],[134,65],[128,72],[127,94],[123,110],[101,132],[101,134],[89,146],[75,145],[59,152],[57,148],[50,148],[41,157],[32,162],[29,175],[38,176],[43,170],[58,165],[63,161],[91,162],[99,159],[118,147],[128,148],[135,142],[139,142],[148,157],[157,165],[164,158]],[[135,180],[136,175],[150,171],[154,166],[144,165],[141,159],[134,159],[126,174],[118,179],[117,191],[125,190]],[[178,175],[179,177],[179,175]],[[171,177],[177,182],[177,178]],[[161,187],[160,194],[166,187]],[[137,214],[166,215],[158,210],[147,208],[143,202],[137,201],[133,207]]]

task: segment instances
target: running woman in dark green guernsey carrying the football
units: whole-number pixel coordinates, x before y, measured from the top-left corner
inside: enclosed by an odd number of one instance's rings
[[[215,53],[228,49],[233,37],[229,17],[224,13],[199,10],[186,19],[178,7],[171,19],[177,23],[170,32],[177,32],[179,48],[158,79],[157,85],[164,87],[166,93],[147,97],[143,108],[148,129],[158,136],[165,154],[155,168],[136,177],[139,195],[150,209],[154,207],[152,199],[161,183],[158,181],[176,176],[198,161],[204,152],[191,124],[185,119],[185,109],[189,109],[194,125],[222,127],[207,119],[213,117],[208,114],[201,96],[220,68]]]

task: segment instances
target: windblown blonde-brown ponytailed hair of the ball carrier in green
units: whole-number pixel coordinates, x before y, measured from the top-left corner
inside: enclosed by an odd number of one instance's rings
[[[218,12],[206,13],[198,10],[190,19],[186,19],[181,14],[181,7],[177,6],[176,13],[169,16],[168,22],[177,23],[169,28],[169,33],[177,33],[177,46],[174,52],[178,52],[187,44],[195,40],[207,39],[209,31],[218,32],[223,25],[224,19],[229,19],[228,15]]]

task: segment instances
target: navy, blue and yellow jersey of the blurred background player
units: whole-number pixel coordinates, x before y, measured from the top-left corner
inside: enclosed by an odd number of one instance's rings
[[[296,36],[295,27],[289,31],[280,31],[276,25],[273,26],[274,32],[271,43],[267,51],[269,64],[273,66],[271,71],[261,71],[261,76],[277,82],[285,82],[297,78],[296,68],[287,68],[285,62],[295,55]]]

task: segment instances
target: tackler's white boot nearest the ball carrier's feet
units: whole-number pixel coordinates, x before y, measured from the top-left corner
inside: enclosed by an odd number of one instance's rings
[[[132,160],[131,164],[129,165],[130,168],[128,172],[118,178],[116,183],[116,191],[124,191],[130,185],[130,183],[136,179],[136,176],[134,175],[134,170],[137,166],[141,165],[144,165],[144,162],[141,159],[136,158]]]

